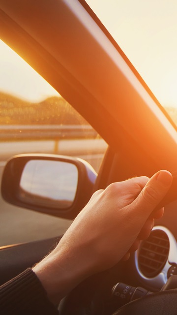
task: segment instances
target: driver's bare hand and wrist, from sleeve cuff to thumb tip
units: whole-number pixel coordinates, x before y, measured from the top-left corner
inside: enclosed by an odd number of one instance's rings
[[[148,237],[153,210],[172,184],[159,171],[149,180],[137,177],[96,191],[68,228],[56,249],[33,268],[54,303],[90,275],[113,267],[140,239]]]

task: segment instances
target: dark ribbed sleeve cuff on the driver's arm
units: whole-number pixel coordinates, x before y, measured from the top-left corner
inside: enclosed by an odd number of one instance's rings
[[[0,315],[40,314],[59,315],[31,269],[0,286]]]

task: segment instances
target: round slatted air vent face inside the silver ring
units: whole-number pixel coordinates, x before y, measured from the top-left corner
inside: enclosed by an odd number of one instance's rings
[[[170,242],[162,230],[153,230],[147,240],[143,241],[138,252],[138,266],[147,278],[157,276],[168,258]]]

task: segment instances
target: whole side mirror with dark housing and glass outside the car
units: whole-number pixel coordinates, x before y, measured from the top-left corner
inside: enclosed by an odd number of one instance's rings
[[[4,168],[1,194],[13,205],[74,219],[89,201],[96,176],[80,158],[18,155]]]

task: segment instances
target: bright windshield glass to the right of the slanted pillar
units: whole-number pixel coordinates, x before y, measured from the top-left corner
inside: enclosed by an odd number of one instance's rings
[[[87,0],[177,125],[177,0]]]

